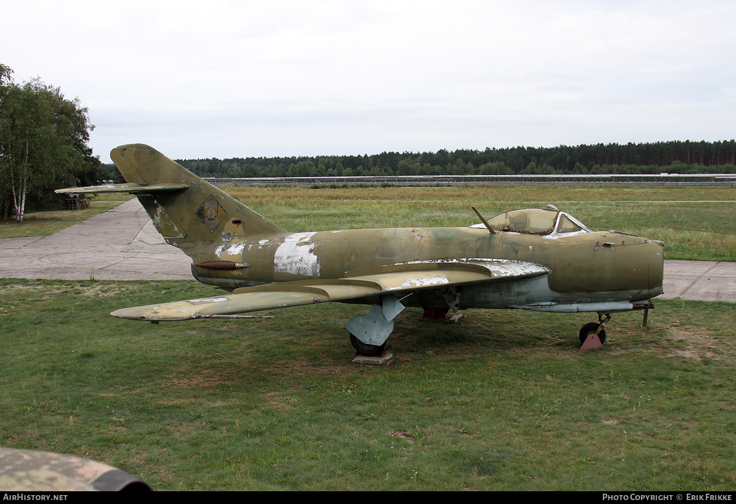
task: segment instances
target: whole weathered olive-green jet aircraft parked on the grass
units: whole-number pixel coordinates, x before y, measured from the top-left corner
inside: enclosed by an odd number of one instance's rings
[[[110,314],[119,318],[159,323],[368,304],[346,328],[358,354],[370,356],[383,353],[404,307],[436,318],[467,308],[598,312],[579,337],[597,332],[602,341],[608,314],[654,307],[650,298],[662,293],[662,242],[591,231],[551,205],[488,221],[473,208],[483,223],[469,228],[289,233],[152,147],[123,145],[110,157],[127,183],[57,192],[137,196],[166,242],[191,257],[194,278],[229,291]]]

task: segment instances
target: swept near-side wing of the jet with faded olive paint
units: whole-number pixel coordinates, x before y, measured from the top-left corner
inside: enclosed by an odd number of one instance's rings
[[[550,273],[542,265],[504,259],[451,259],[407,262],[352,270],[342,279],[286,281],[243,287],[233,293],[143,307],[117,309],[118,318],[140,321],[184,321],[193,318],[238,318],[238,314],[302,304],[347,301],[389,293],[528,279]]]

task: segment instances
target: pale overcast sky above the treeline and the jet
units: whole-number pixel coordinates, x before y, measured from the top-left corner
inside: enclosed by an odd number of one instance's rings
[[[736,137],[733,1],[7,1],[0,63],[171,158]]]

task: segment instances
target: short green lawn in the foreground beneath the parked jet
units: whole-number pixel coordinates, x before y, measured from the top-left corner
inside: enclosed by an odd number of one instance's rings
[[[358,366],[320,304],[273,319],[136,323],[113,309],[211,295],[194,281],[0,280],[6,447],[110,463],[155,489],[732,490],[736,310],[469,310],[397,318],[394,363]]]

